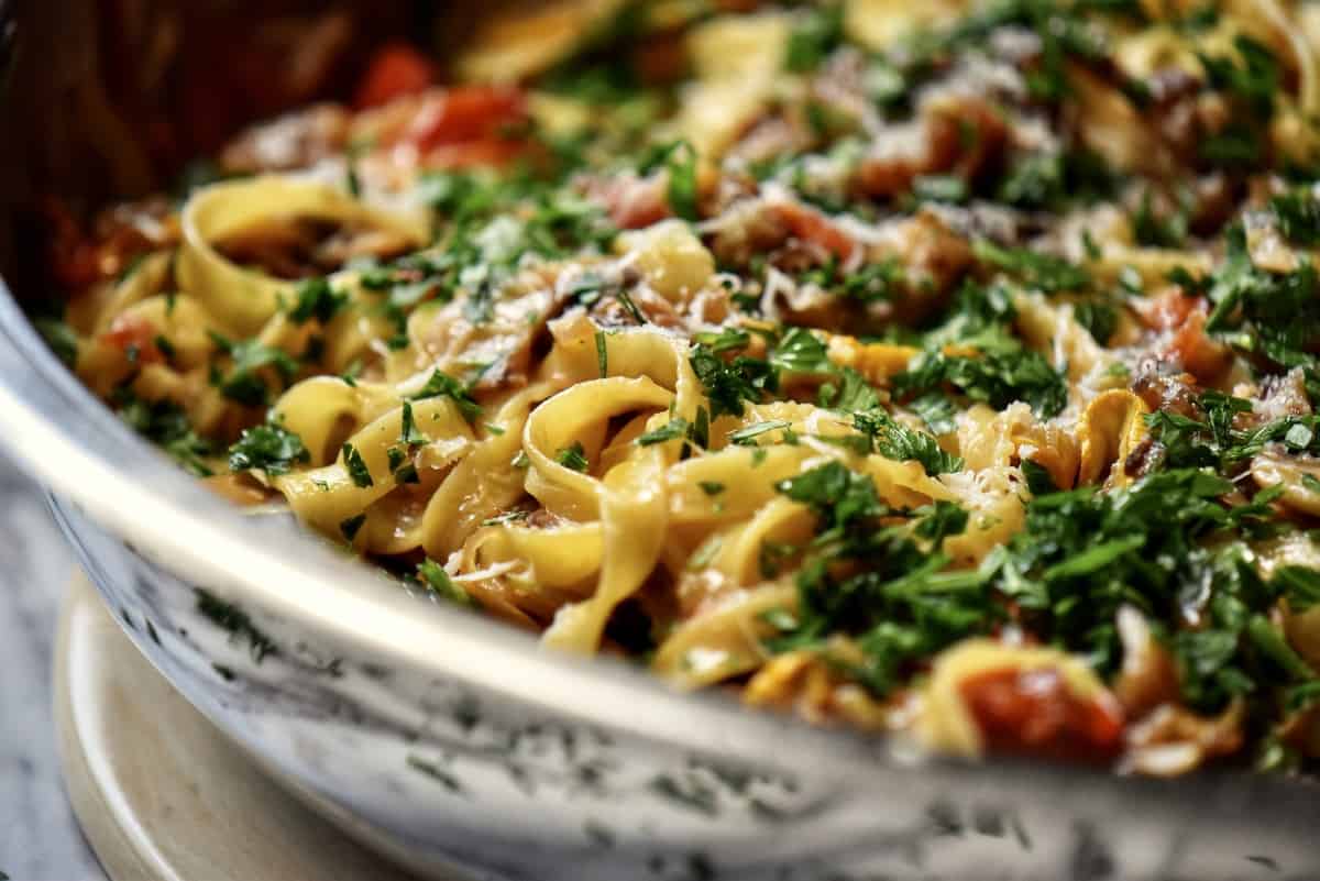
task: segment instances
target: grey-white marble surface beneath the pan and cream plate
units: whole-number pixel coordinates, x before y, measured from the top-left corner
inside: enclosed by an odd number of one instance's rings
[[[59,778],[51,645],[73,554],[38,488],[0,454],[0,877],[100,881]]]

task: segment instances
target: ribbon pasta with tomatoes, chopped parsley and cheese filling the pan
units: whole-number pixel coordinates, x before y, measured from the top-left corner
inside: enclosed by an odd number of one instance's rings
[[[824,724],[1320,757],[1320,5],[576,0],[363,61],[51,207],[38,327],[215,492]]]

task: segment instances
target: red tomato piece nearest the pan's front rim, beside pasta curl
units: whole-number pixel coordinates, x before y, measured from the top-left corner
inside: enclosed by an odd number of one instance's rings
[[[962,683],[986,748],[1044,758],[1104,762],[1118,754],[1122,710],[1073,694],[1059,670],[991,670]]]

